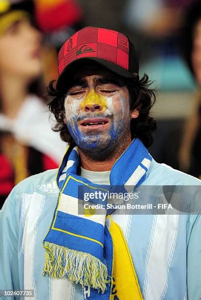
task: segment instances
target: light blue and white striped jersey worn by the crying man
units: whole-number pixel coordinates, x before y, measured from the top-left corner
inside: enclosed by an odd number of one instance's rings
[[[83,300],[79,284],[42,275],[43,240],[58,195],[56,172],[22,181],[0,211],[0,290],[31,289],[34,297],[29,299],[36,300]],[[152,159],[143,184],[201,185],[201,181]],[[125,234],[143,299],[201,299],[200,215],[120,215],[116,210],[111,216]]]

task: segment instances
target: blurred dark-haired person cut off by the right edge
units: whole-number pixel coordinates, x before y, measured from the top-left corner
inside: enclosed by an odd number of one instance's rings
[[[180,170],[201,178],[201,1],[186,10],[182,34],[183,56],[198,83],[193,112],[189,116],[179,150]]]

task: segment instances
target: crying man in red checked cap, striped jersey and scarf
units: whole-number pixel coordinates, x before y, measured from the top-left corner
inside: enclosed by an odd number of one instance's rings
[[[146,214],[107,206],[112,191],[113,203],[129,191],[132,205],[145,204],[143,186],[197,186],[191,200],[200,199],[200,180],[147,150],[155,98],[134,46],[122,33],[85,27],[58,60],[49,107],[69,147],[58,170],[22,181],[0,211],[0,290],[30,289],[39,300],[200,299],[197,211],[158,212],[151,194]]]

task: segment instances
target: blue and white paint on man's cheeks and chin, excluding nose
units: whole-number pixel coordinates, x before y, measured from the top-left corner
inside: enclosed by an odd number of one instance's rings
[[[90,93],[89,93],[90,94]],[[125,131],[128,134],[128,125],[130,124],[128,99],[120,97],[103,97],[104,109],[99,111],[85,111],[83,103],[93,104],[89,97],[66,99],[66,119],[68,130],[75,140],[76,145],[84,150],[104,150],[111,147],[119,139]],[[93,97],[95,97],[93,92]],[[87,99],[88,98],[88,99]],[[96,97],[95,97],[96,98]],[[87,99],[87,101],[86,101]],[[98,129],[90,129],[90,125],[83,127],[80,121],[93,118],[108,118],[107,126],[99,127]]]

